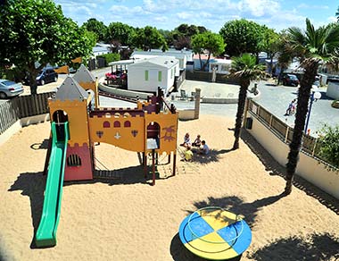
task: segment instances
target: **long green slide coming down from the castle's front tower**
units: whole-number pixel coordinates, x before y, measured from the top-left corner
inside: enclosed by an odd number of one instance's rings
[[[49,158],[47,181],[45,184],[45,199],[41,220],[37,228],[36,244],[38,248],[53,247],[56,244],[62,205],[62,184],[65,170],[67,142],[69,139],[68,122],[62,123],[57,137],[55,122],[52,122],[52,150]]]

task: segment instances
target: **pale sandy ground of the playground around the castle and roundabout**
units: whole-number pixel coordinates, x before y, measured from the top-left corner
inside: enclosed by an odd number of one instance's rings
[[[242,260],[339,260],[338,200],[302,181],[282,197],[284,168],[245,132],[240,149],[230,151],[233,126],[216,116],[179,122],[178,137],[200,130],[211,155],[178,160],[178,175],[168,179],[170,166],[160,166],[154,187],[136,153],[96,146],[96,157],[118,178],[65,182],[57,245],[45,249],[32,241],[50,125],[23,128],[0,147],[0,260],[203,260],[178,239],[185,216],[203,206],[245,216],[252,244]]]

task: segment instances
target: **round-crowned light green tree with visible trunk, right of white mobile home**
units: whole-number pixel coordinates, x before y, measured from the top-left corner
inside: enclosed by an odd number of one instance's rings
[[[194,35],[192,38],[193,51],[194,53],[199,54],[199,60],[203,71],[210,63],[211,54],[222,54],[225,50],[225,46],[223,38],[219,34],[210,31]],[[201,54],[203,54],[205,50],[208,51],[208,58],[206,63],[203,64]]]

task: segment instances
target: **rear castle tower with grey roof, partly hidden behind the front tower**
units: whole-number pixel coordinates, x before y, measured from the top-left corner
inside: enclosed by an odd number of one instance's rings
[[[91,95],[91,103],[95,109],[99,108],[98,80],[88,71],[84,64],[81,64],[73,79]]]

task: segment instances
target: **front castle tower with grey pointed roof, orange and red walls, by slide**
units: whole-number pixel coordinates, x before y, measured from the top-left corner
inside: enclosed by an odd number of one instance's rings
[[[70,139],[67,146],[65,181],[93,178],[92,145],[89,139],[87,106],[91,97],[71,77],[63,81],[55,97],[49,100],[51,120],[69,122]]]

